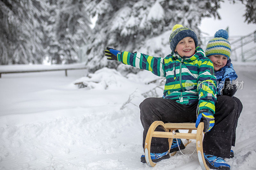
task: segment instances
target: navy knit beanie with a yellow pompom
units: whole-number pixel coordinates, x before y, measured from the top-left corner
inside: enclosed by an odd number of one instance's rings
[[[173,26],[172,33],[169,38],[170,48],[171,48],[172,52],[175,51],[175,48],[176,48],[177,44],[180,42],[180,40],[182,40],[185,37],[193,38],[195,41],[195,46],[196,47],[198,46],[198,40],[196,37],[196,33],[194,31],[192,31],[190,28],[184,27],[180,24],[176,24],[175,26]]]

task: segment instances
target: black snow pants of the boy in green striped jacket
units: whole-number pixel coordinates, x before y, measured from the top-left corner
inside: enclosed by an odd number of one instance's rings
[[[140,121],[144,128],[143,148],[148,128],[154,121],[164,123],[196,122],[198,103],[182,105],[174,100],[164,98],[147,98],[140,103]],[[203,140],[204,153],[230,158],[231,145],[235,145],[236,126],[242,103],[236,97],[218,96],[215,104],[215,124],[210,132],[205,133]],[[157,131],[164,131],[161,127]],[[150,152],[163,153],[168,151],[167,138],[153,137]]]

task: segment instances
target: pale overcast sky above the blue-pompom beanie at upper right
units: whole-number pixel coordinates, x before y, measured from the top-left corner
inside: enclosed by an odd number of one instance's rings
[[[256,30],[256,24],[244,23],[245,5],[240,1],[233,4],[230,1],[221,3],[219,14],[221,20],[214,18],[202,19],[200,29],[209,36],[213,36],[219,29],[226,29],[229,26],[229,36],[247,35]]]

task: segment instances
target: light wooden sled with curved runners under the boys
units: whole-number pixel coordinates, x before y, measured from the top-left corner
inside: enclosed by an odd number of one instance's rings
[[[160,126],[162,127],[165,132],[155,131],[156,127]],[[188,129],[188,133],[172,133],[172,131],[176,129]],[[197,130],[196,134],[191,133],[192,130]],[[150,157],[150,145],[152,137],[164,137],[169,138],[169,151],[171,149],[172,145],[172,139],[178,138],[178,139],[187,139],[185,146],[189,144],[191,141],[190,139],[196,140],[196,152],[198,156],[198,160],[200,163],[200,166],[203,170],[209,170],[209,167],[207,166],[205,159],[204,159],[204,152],[203,152],[203,130],[204,130],[204,122],[200,122],[198,127],[196,128],[196,123],[164,123],[162,121],[155,121],[153,122],[149,129],[145,140],[145,159],[149,166],[154,167],[156,163],[154,163],[151,160]],[[173,156],[176,152],[171,153],[171,156]]]

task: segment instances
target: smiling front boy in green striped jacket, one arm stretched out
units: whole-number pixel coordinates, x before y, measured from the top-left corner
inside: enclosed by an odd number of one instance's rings
[[[217,80],[212,62],[205,57],[202,48],[198,47],[196,34],[188,27],[175,25],[169,41],[172,53],[165,58],[127,51],[120,52],[108,47],[104,51],[108,60],[120,61],[133,67],[149,70],[157,76],[166,77],[164,97],[147,98],[140,104],[140,120],[144,128],[143,148],[148,128],[154,121],[196,122],[196,127],[199,122],[204,122],[204,132],[206,132],[204,146],[207,145],[204,148],[205,153],[229,158],[231,144],[227,151],[229,138],[222,134],[223,130],[225,133],[230,133],[232,128],[227,125],[229,117],[220,116],[223,114],[222,106],[215,107]],[[227,113],[231,115],[231,110],[227,110]],[[214,118],[215,115],[217,118]],[[160,127],[156,129],[164,131]],[[211,130],[220,135],[207,135]],[[176,146],[172,145],[170,152],[178,151],[179,148]],[[153,162],[169,158],[168,150],[167,138],[152,138],[150,154]],[[141,162],[146,162],[145,155],[141,156]],[[215,166],[230,167],[225,161],[216,162]]]

